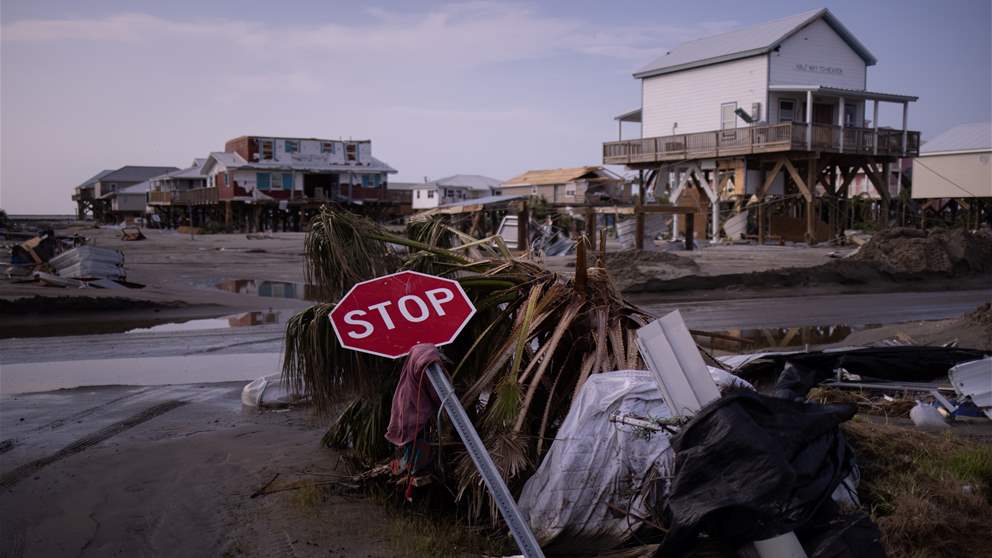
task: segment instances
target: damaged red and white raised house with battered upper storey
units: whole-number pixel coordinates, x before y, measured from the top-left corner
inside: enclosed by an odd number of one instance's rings
[[[150,203],[169,226],[300,230],[328,202],[365,213],[396,206],[386,189],[395,172],[372,156],[368,140],[241,136],[165,177]]]

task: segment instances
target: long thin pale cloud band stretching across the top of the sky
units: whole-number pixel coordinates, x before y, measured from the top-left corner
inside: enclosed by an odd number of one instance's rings
[[[262,25],[250,21],[170,20],[126,13],[91,19],[26,19],[3,25],[11,42],[149,42],[203,40],[253,47],[261,57],[392,57],[429,64],[476,66],[559,54],[646,61],[677,42],[722,31],[727,21],[695,25],[609,25],[542,15],[527,4],[445,4],[420,13],[369,8],[370,20]]]

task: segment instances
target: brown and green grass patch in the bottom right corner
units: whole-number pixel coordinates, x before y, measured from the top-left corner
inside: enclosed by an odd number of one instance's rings
[[[992,555],[992,445],[861,420],[844,431],[889,556]]]

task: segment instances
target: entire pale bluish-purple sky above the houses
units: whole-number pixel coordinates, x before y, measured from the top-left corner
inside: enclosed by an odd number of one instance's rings
[[[392,181],[597,164],[633,70],[824,6],[878,58],[869,89],[919,96],[924,139],[992,120],[990,0],[0,0],[0,208],[70,213],[102,169],[252,134],[371,139]]]

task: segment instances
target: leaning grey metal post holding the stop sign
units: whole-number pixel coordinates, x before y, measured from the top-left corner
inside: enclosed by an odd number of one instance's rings
[[[475,427],[472,426],[468,415],[465,414],[465,409],[462,407],[461,402],[458,401],[458,396],[455,395],[455,390],[451,387],[451,382],[448,381],[448,375],[445,374],[444,369],[440,366],[432,364],[427,367],[427,377],[430,379],[431,385],[434,386],[434,391],[441,398],[441,405],[448,412],[451,425],[454,426],[455,432],[458,432],[458,436],[461,437],[462,443],[465,444],[465,449],[468,450],[472,462],[475,463],[479,474],[482,475],[482,480],[486,482],[489,492],[492,493],[493,499],[496,500],[496,507],[499,508],[503,520],[506,521],[506,525],[510,528],[510,534],[513,535],[513,540],[517,541],[517,547],[520,548],[520,552],[527,558],[543,558],[544,553],[541,551],[541,546],[537,544],[534,533],[531,532],[527,521],[524,520],[523,515],[520,513],[520,509],[517,508],[517,503],[513,500],[510,489],[503,482],[503,477],[496,470],[496,465],[493,463],[493,459],[489,457],[489,452],[486,451],[486,446],[483,445],[482,440],[479,438],[479,433],[475,431]]]

